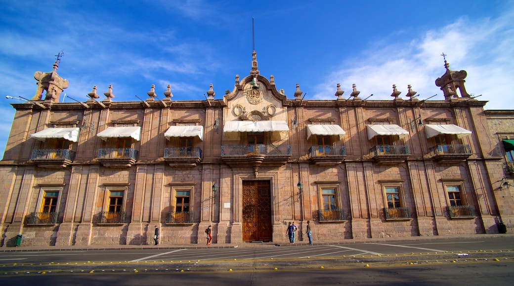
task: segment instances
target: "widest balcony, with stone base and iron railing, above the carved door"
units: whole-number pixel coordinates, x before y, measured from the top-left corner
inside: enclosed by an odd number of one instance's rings
[[[222,146],[221,155],[222,160],[230,167],[280,167],[291,158],[291,146]]]

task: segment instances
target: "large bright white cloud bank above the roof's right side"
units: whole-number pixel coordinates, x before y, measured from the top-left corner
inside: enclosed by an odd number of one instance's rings
[[[506,13],[511,15],[512,13]],[[482,18],[470,21],[460,18],[455,23],[413,38],[409,43],[374,47],[358,59],[326,76],[318,86],[316,99],[334,99],[336,84],[341,83],[345,95],[357,84],[360,97],[374,94],[373,99],[391,99],[392,85],[402,91],[406,99],[407,85],[412,85],[419,98],[443,99],[443,92],[435,86],[435,79],[444,74],[442,52],[452,70],[466,70],[466,89],[473,95],[483,94],[489,100],[487,109],[514,109],[514,22],[512,17]],[[501,97],[500,97],[501,96]],[[507,101],[507,102],[505,102]]]

